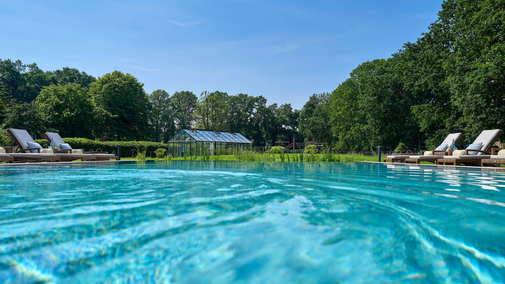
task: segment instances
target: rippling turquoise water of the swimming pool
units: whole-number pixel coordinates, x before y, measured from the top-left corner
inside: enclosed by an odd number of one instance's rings
[[[505,173],[377,163],[0,167],[1,283],[492,283]]]

